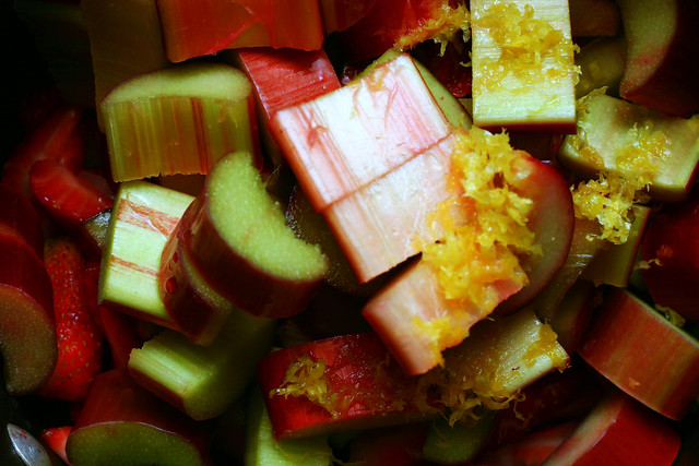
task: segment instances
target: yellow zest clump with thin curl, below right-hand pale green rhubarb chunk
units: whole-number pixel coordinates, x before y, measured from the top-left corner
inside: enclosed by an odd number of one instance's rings
[[[604,93],[593,91],[579,100],[580,112],[587,111],[590,98]],[[603,166],[602,157],[588,144],[592,121],[579,118],[578,133],[570,136],[574,147],[585,157]],[[671,156],[667,136],[653,128],[653,121],[635,123],[625,135],[618,138],[614,148],[614,167],[600,172],[596,180],[571,187],[576,217],[596,219],[602,226],[601,238],[615,244],[627,241],[633,222],[633,203],[647,203],[645,190],[660,172],[664,160]],[[590,238],[593,239],[593,238]]]

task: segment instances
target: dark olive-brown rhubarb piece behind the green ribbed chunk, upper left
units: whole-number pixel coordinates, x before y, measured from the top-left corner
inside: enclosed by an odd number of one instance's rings
[[[81,2],[87,32],[94,72],[97,120],[102,98],[122,82],[142,73],[170,64],[165,56],[163,33],[153,0],[120,0]]]

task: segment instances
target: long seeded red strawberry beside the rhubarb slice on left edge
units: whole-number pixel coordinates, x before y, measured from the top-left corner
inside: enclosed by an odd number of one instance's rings
[[[85,260],[69,238],[49,240],[44,255],[54,287],[58,361],[39,394],[59,399],[83,398],[102,367],[102,335],[85,302]]]

